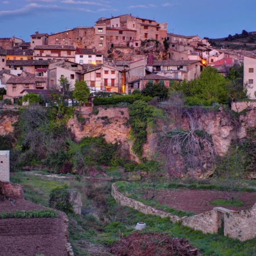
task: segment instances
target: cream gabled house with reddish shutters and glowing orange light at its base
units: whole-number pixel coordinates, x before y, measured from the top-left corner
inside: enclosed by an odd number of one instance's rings
[[[97,67],[82,73],[81,80],[84,80],[91,91],[108,91],[119,92],[123,91],[123,72],[119,68],[102,64]]]

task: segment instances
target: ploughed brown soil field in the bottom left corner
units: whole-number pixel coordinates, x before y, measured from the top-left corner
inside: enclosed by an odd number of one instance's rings
[[[0,198],[0,212],[46,209],[23,199]],[[0,256],[67,256],[64,214],[58,218],[0,219]]]

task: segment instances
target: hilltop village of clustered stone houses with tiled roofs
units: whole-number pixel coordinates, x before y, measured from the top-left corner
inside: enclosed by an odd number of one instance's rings
[[[27,93],[60,90],[61,77],[67,77],[72,86],[76,80],[86,81],[90,92],[131,94],[148,83],[168,88],[174,82],[196,79],[207,65],[225,76],[230,67],[242,63],[244,82],[254,92],[252,52],[214,49],[198,35],[168,33],[167,25],[125,14],[100,18],[94,27],[52,35],[36,31],[30,42],[0,38],[4,99],[17,103]]]

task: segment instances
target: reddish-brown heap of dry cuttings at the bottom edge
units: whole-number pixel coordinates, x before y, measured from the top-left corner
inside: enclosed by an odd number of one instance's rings
[[[184,238],[171,238],[165,234],[142,234],[135,232],[121,238],[109,248],[118,256],[200,256],[199,251]]]

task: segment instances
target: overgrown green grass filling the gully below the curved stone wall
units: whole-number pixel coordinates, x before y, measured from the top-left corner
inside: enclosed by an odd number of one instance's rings
[[[48,201],[49,190],[56,185],[68,183],[82,193],[83,206],[81,216],[69,214],[69,241],[76,256],[103,255],[106,246],[135,232],[139,221],[146,222],[143,232],[162,232],[187,240],[200,249],[200,253],[209,256],[252,256],[256,255],[256,238],[241,242],[221,234],[203,234],[191,228],[172,223],[168,218],[145,215],[137,210],[118,205],[110,195],[111,183],[92,183],[90,181],[56,180],[30,173],[15,173],[11,181],[24,185],[25,197],[29,200],[43,197],[40,202]],[[134,184],[122,184],[121,189],[136,192]]]

